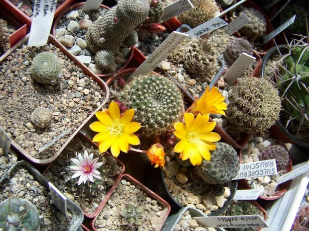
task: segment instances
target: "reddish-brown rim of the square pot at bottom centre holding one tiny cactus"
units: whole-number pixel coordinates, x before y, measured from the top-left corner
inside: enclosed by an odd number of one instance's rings
[[[137,188],[140,188],[143,190],[143,193],[146,193],[148,197],[151,197],[152,199],[156,200],[158,202],[158,204],[161,205],[161,207],[163,208],[163,210],[166,210],[164,212],[164,214],[162,214],[160,217],[157,218],[158,221],[160,221],[158,227],[154,228],[155,231],[160,231],[169,212],[170,212],[170,206],[168,205],[168,203],[166,201],[164,201],[161,197],[159,197],[158,195],[156,195],[153,191],[151,191],[149,188],[147,188],[145,185],[143,185],[141,182],[137,181],[135,178],[133,178],[131,175],[129,174],[124,174],[122,176],[121,179],[119,179],[119,181],[115,184],[115,187],[113,187],[113,192],[110,192],[111,196],[109,198],[112,198],[113,197],[113,193],[116,189],[116,187],[118,185],[121,184],[121,180],[122,179],[125,179],[127,181],[129,181],[131,184],[135,185]],[[112,191],[112,190],[111,190]],[[117,206],[117,205],[115,205]],[[104,208],[104,206],[100,206],[100,210],[102,211]],[[145,214],[145,211],[144,213]],[[94,219],[93,221],[90,223],[91,225],[91,228],[94,230],[94,231],[97,231],[96,229],[96,221],[98,220],[98,217],[99,217],[100,214],[98,214]],[[125,228],[124,228],[125,230]]]

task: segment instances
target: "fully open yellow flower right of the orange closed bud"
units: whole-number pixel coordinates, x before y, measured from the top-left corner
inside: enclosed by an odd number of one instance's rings
[[[180,153],[179,158],[190,158],[195,166],[202,163],[203,158],[210,160],[210,152],[216,149],[213,142],[221,139],[219,134],[211,132],[216,122],[209,122],[209,115],[200,113],[194,118],[192,113],[184,113],[184,123],[176,122],[174,135],[180,140],[174,147],[175,153]]]

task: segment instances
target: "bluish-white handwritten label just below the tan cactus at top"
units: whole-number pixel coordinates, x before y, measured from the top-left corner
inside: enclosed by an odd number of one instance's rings
[[[192,30],[189,30],[187,34],[190,36],[190,38],[198,38],[204,34],[210,33],[211,31],[219,29],[220,27],[226,25],[228,25],[226,21],[222,20],[221,18],[215,17],[193,28]]]

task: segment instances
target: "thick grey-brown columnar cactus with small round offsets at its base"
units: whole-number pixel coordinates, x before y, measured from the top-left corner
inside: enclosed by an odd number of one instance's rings
[[[123,44],[134,46],[137,43],[134,29],[147,18],[149,10],[149,0],[119,0],[91,25],[86,33],[86,42],[88,48],[97,53],[95,61],[98,66],[106,71],[116,70],[113,51]]]

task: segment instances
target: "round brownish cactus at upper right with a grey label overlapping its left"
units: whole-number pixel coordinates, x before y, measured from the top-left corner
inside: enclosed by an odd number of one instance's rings
[[[250,22],[244,25],[240,32],[251,39],[260,38],[267,28],[267,21],[264,15],[257,9],[247,7],[244,7],[238,16],[241,16],[243,13],[250,18]]]

